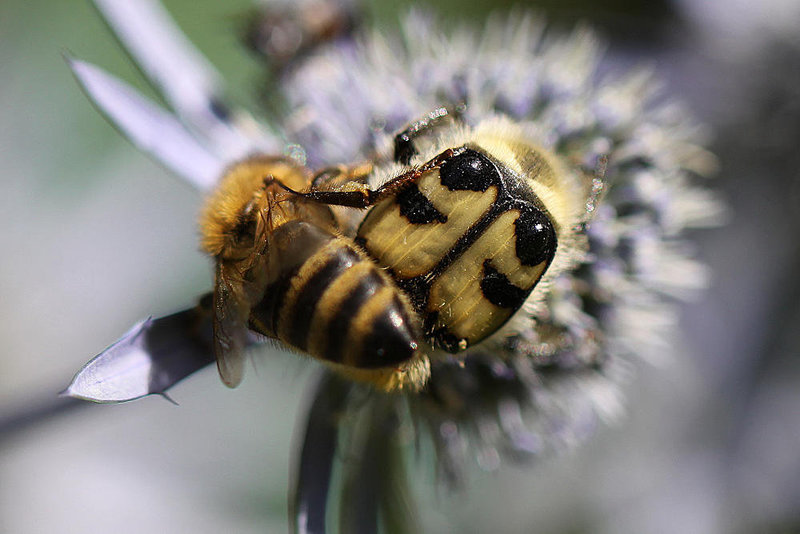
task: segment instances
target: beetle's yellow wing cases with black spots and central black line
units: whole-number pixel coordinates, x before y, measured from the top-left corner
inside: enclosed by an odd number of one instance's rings
[[[428,340],[450,352],[508,321],[556,250],[522,177],[468,147],[376,204],[356,241],[409,295]]]

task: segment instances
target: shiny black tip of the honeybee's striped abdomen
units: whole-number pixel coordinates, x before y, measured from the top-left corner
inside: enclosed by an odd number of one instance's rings
[[[413,328],[397,299],[372,320],[372,332],[364,339],[355,363],[369,369],[390,367],[410,360],[417,350]]]

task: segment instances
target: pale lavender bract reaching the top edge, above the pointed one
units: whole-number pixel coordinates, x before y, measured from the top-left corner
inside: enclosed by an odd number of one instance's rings
[[[108,25],[190,131],[228,162],[277,153],[277,138],[224,103],[220,75],[154,0],[94,0]]]

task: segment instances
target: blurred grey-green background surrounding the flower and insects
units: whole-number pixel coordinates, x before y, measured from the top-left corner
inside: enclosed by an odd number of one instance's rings
[[[248,0],[165,0],[248,107]],[[490,5],[491,4],[491,5]],[[367,2],[390,27],[408,3]],[[438,2],[479,21],[510,2]],[[728,224],[694,236],[714,272],[627,417],[584,446],[469,489],[412,480],[430,532],[800,532],[800,3],[543,1],[588,20],[611,63],[645,63],[714,132]],[[119,406],[56,394],[135,321],[210,287],[201,198],[92,109],[61,54],[147,86],[88,1],[0,2],[0,532],[284,532],[311,369],[266,352],[235,391],[207,369]],[[429,458],[428,458],[429,460]]]

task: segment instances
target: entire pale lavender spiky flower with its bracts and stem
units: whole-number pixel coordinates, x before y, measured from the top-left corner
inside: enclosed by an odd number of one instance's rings
[[[355,521],[374,531],[379,516],[387,528],[402,528],[403,514],[392,504],[404,498],[399,447],[422,429],[437,453],[439,473],[451,484],[463,482],[473,454],[482,468],[493,469],[503,459],[580,441],[598,418],[619,415],[629,363],[658,353],[673,327],[675,297],[692,295],[705,282],[705,269],[684,238],[686,229],[714,224],[721,213],[697,183],[713,167],[701,148],[704,131],[659,94],[649,73],[602,74],[602,45],[587,28],[550,35],[542,20],[516,13],[495,17],[480,30],[445,31],[435,17],[415,12],[395,37],[358,33],[293,63],[279,83],[290,111],[267,128],[254,127],[241,111],[222,111],[209,67],[187,53],[185,43],[175,45],[179,34],[155,5],[142,4],[152,9],[137,20],[118,16],[122,3],[99,4],[144,72],[173,97],[167,100],[176,114],[146,103],[95,67],[73,62],[79,80],[136,144],[200,187],[253,150],[276,153],[283,147],[312,168],[388,160],[392,136],[442,105],[457,106],[467,124],[498,115],[523,123],[576,169],[593,172],[607,161],[595,178],[596,189],[605,188],[603,199],[587,205],[594,212],[583,229],[588,253],[550,281],[548,291],[491,343],[464,357],[433,361],[430,382],[417,395],[386,395],[335,376],[321,380],[293,489],[298,531],[324,530],[335,452],[342,447],[352,453],[348,457],[362,459],[338,467],[342,530],[351,531]],[[175,46],[166,53],[143,44],[154,21],[162,39],[172,36]],[[167,70],[201,81],[193,95],[199,98],[184,98],[174,76],[162,76]],[[169,127],[155,132],[156,122]],[[200,175],[196,163],[174,151],[164,156],[161,141],[150,142],[163,140],[162,131],[170,142],[211,154]],[[157,387],[141,376],[114,375],[112,383],[108,369],[124,359],[137,358],[140,368],[145,361],[147,377],[166,367],[163,351],[143,350],[135,341],[147,340],[152,324],[161,323],[148,323],[90,362],[68,393],[97,400],[98,387],[110,388],[103,400],[129,400],[163,393],[186,376],[191,369],[184,366],[167,371]],[[176,344],[197,338],[183,327],[171,332]],[[119,380],[127,386],[134,379],[142,387],[120,387]],[[378,460],[391,461],[375,479],[370,472]]]

